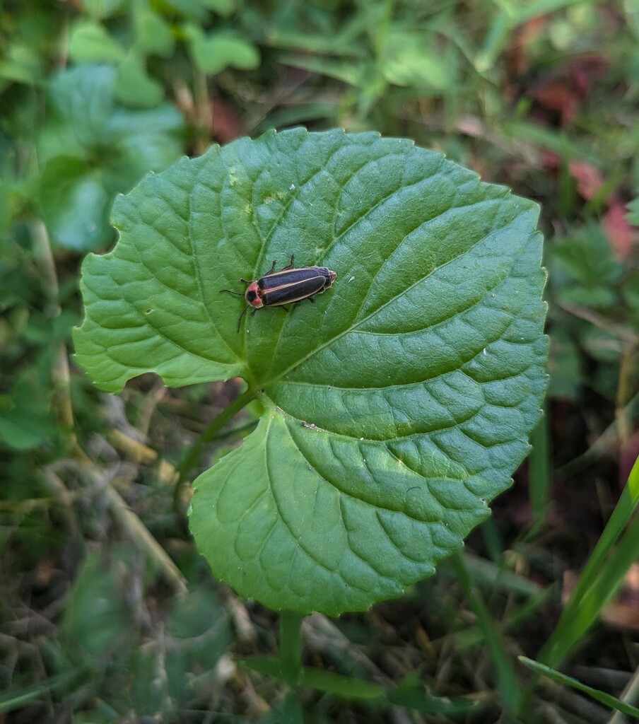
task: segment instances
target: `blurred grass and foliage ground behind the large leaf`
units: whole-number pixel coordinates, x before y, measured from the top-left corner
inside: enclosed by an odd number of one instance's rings
[[[588,692],[533,688],[519,654],[635,700],[636,487],[619,494],[639,450],[638,35],[633,0],[4,2],[7,721],[299,720],[281,672],[237,665],[276,649],[276,619],[214,584],[175,485],[234,383],[142,376],[112,397],[69,353],[80,261],[111,247],[115,194],[211,140],[300,123],[414,138],[540,201],[551,334],[533,456],[464,555],[401,601],[305,622],[308,720],[607,719]],[[255,417],[235,425],[203,467]],[[588,605],[556,626],[591,553]]]

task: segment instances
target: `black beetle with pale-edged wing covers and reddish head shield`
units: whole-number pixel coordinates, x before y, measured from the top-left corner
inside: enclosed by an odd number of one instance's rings
[[[277,261],[274,261],[271,269],[261,279],[255,279],[254,282],[240,279],[240,282],[248,285],[243,294],[230,289],[220,290],[238,297],[243,296],[246,300],[246,307],[237,321],[238,332],[242,326],[242,317],[251,307],[253,311],[250,316],[262,307],[282,307],[284,311],[288,311],[284,304],[294,304],[303,299],[315,302],[315,295],[325,292],[337,279],[337,272],[326,269],[326,266],[300,266],[296,269],[293,266],[294,261],[295,254],[291,254],[291,263],[279,271],[275,271]]]

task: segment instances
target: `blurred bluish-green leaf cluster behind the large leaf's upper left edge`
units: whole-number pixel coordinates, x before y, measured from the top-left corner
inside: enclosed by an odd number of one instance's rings
[[[46,164],[41,205],[52,240],[65,248],[82,251],[109,242],[114,196],[149,170],[168,166],[182,150],[177,109],[119,105],[116,77],[110,67],[82,66],[57,75],[49,88],[51,112],[38,143]]]

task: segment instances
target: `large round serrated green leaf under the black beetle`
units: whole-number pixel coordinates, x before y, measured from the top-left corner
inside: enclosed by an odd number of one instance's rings
[[[242,376],[263,416],[194,483],[219,578],[337,615],[398,596],[511,484],[546,388],[538,207],[410,141],[269,132],[151,175],[83,267],[77,361],[103,390]],[[314,305],[221,295],[271,261],[337,271]],[[250,396],[250,395],[249,395]]]

